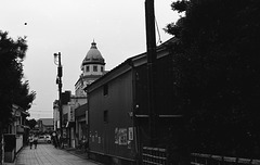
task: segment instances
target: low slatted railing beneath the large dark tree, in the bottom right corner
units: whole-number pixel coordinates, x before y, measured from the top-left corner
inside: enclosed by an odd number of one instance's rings
[[[260,160],[229,157],[211,154],[192,153],[192,165],[259,165]]]

